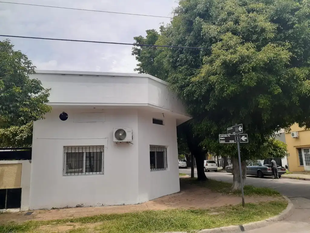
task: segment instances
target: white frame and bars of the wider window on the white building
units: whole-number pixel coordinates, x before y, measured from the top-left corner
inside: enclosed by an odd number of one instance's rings
[[[69,148],[71,148],[71,151],[69,151]],[[74,151],[72,151],[72,148],[75,148]],[[78,148],[78,151],[76,151],[76,148]],[[91,151],[92,148],[92,151]],[[99,151],[94,151],[94,148]],[[80,149],[82,149],[82,152],[80,152]],[[85,151],[83,151],[85,149]],[[88,149],[88,151],[87,151]],[[68,153],[83,153],[83,160],[82,160],[82,172],[73,172],[73,173],[67,173],[67,154]],[[86,153],[101,153],[101,171],[97,172],[86,172]],[[73,169],[80,169],[80,168],[73,168]],[[104,145],[101,146],[64,146],[63,147],[63,176],[89,176],[89,175],[104,175]]]

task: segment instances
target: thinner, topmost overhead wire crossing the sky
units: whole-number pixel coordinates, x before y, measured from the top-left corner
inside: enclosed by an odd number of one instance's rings
[[[133,13],[124,13],[124,12],[114,12],[114,11],[89,10],[89,9],[72,8],[72,7],[56,7],[56,6],[48,6],[48,5],[30,4],[30,3],[3,2],[3,1],[0,1],[0,3],[8,3],[8,4],[16,4],[16,5],[25,5],[25,6],[35,6],[35,7],[50,7],[50,8],[67,9],[67,10],[78,10],[78,11],[93,11],[93,12],[111,13],[111,14],[121,14],[121,15],[135,15],[135,16],[148,16],[148,17],[157,17],[157,18],[173,19],[173,17],[169,17],[169,16],[156,16],[156,15],[143,15],[143,14],[133,14]],[[188,18],[182,18],[182,19],[194,21],[194,19],[188,19]],[[203,20],[203,21],[211,22],[210,20]]]

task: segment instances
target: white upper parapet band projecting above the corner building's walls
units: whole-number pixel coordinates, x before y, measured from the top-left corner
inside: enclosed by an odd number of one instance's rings
[[[38,70],[30,77],[51,88],[51,105],[151,105],[186,115],[183,103],[168,90],[168,84],[147,74]]]

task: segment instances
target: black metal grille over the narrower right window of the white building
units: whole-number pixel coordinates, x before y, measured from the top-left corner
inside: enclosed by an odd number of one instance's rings
[[[150,145],[150,168],[151,171],[166,170],[167,148],[166,146]]]

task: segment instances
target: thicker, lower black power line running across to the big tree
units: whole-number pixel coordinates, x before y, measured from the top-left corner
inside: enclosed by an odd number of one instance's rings
[[[211,49],[210,47],[209,48],[203,48],[203,47],[201,48],[201,47],[171,46],[171,45],[118,43],[118,42],[105,42],[105,41],[94,41],[94,40],[56,39],[56,38],[33,37],[33,36],[13,36],[13,35],[0,35],[0,36],[2,36],[2,37],[14,37],[14,38],[25,38],[25,39],[58,40],[58,41],[73,41],[73,42],[100,43],[100,44],[122,44],[122,45],[134,45],[134,46],[146,46],[146,47]]]

